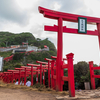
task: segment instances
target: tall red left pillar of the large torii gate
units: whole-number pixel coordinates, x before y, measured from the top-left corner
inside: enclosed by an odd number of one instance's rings
[[[41,7],[39,7],[39,12],[41,12]],[[49,17],[50,18],[50,17]],[[62,51],[63,51],[63,20],[62,17],[58,17],[58,37],[57,37],[57,68],[56,68],[56,90],[62,90],[62,85],[61,85],[61,66],[62,66]],[[57,28],[55,27],[55,30]],[[52,28],[50,29],[52,30]]]

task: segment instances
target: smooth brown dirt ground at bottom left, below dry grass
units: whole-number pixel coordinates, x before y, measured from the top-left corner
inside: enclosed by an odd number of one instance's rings
[[[55,96],[37,91],[0,88],[0,100],[55,100]]]

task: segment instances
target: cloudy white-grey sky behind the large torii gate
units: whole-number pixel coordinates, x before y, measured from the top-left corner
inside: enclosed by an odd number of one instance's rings
[[[100,18],[100,0],[0,0],[0,31],[31,32],[36,38],[48,38],[57,47],[57,33],[45,32],[44,25],[57,25],[57,21],[44,18],[38,6],[48,9]],[[78,28],[78,24],[63,22],[64,26]],[[88,30],[96,26],[89,25]],[[63,57],[74,53],[74,63],[94,61],[100,63],[97,36],[63,34]]]

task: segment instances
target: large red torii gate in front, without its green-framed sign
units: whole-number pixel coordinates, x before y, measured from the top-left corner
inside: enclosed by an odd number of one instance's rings
[[[56,69],[56,88],[58,90],[61,90],[61,74],[63,73],[61,66],[62,66],[62,52],[63,52],[63,32],[66,33],[75,33],[75,34],[83,34],[79,33],[78,29],[73,28],[67,28],[66,26],[63,26],[63,21],[70,21],[70,22],[78,22],[78,18],[86,18],[87,24],[96,24],[97,30],[90,31],[87,30],[85,35],[95,35],[98,36],[99,39],[99,47],[100,47],[100,18],[95,17],[88,17],[88,16],[82,16],[82,15],[76,15],[76,14],[69,14],[69,13],[63,13],[58,12],[54,10],[49,10],[43,7],[39,7],[39,12],[44,15],[44,17],[51,18],[58,20],[58,26],[44,26],[45,31],[54,31],[58,32],[58,38],[57,38],[57,69]]]

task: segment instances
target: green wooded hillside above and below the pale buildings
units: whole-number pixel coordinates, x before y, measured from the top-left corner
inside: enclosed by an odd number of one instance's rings
[[[29,45],[37,46],[38,48],[43,48],[44,45],[47,45],[50,50],[33,52],[31,54],[16,53],[12,61],[4,62],[4,71],[26,65],[27,63],[36,63],[36,60],[44,61],[44,58],[51,58],[52,55],[56,56],[56,48],[48,38],[41,40],[40,38],[35,38],[32,33],[29,32],[19,34],[0,32],[0,47],[22,45],[22,42],[28,42]],[[12,55],[11,51],[0,52],[0,56],[3,56],[4,58],[10,55]]]

